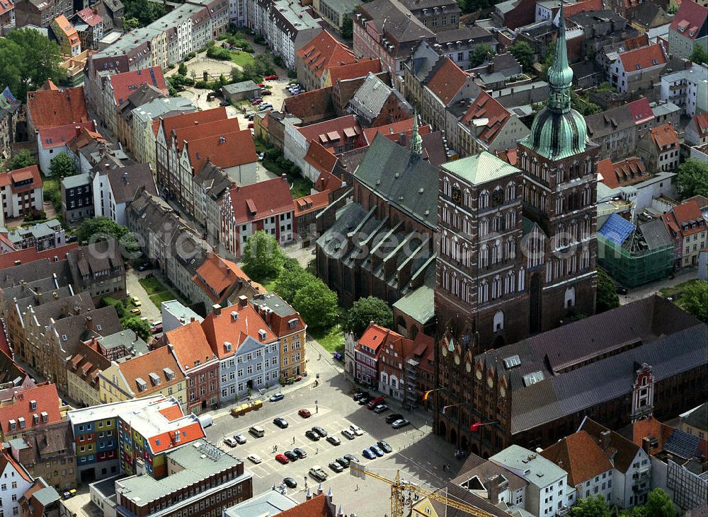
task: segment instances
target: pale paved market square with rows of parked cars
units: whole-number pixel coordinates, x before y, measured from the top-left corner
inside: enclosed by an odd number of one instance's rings
[[[390,513],[390,488],[386,483],[351,477],[348,469],[337,474],[327,466],[328,463],[345,454],[353,454],[379,475],[393,479],[396,469],[400,469],[404,478],[416,480],[423,486],[429,484],[430,489],[440,487],[442,480],[447,479],[448,473],[442,471],[443,462],[450,463],[452,472],[456,471],[459,462],[453,458],[452,446],[430,434],[430,422],[426,422],[426,414],[404,412],[392,402],[394,412],[404,414],[404,417],[413,422],[412,426],[404,429],[393,429],[384,421],[391,411],[379,415],[359,406],[348,394],[351,384],[340,374],[339,369],[333,366],[336,363],[331,363],[326,354],[318,359],[319,345],[309,342],[307,347],[309,376],[306,381],[301,381],[307,384],[287,387],[286,390],[292,391],[285,394],[284,400],[266,401],[262,409],[242,417],[234,418],[228,409],[222,409],[215,413],[214,424],[206,430],[210,440],[218,443],[224,451],[244,460],[246,467],[253,472],[254,494],[271,489],[274,484],[280,484],[283,477],[293,477],[297,481],[297,488],[288,489],[288,495],[298,501],[304,501],[307,487],[316,490],[319,484],[309,477],[307,472],[312,466],[320,465],[329,475],[322,484],[324,491],[332,489],[335,501],[344,505],[345,513],[355,511],[359,516],[384,516]],[[319,386],[314,387],[313,377],[318,372]],[[275,393],[275,390],[270,390],[269,395],[272,393]],[[318,402],[317,405],[315,401]],[[309,409],[312,417],[299,417],[297,411],[301,408]],[[289,424],[287,429],[275,426],[275,417],[285,418]],[[352,441],[345,438],[341,431],[350,424],[360,426],[365,431],[364,436],[358,436]],[[249,427],[253,425],[265,429],[263,438],[254,438],[248,433]],[[304,436],[304,432],[312,426],[321,426],[329,434],[337,436],[341,439],[341,445],[333,446],[324,439],[309,440]],[[227,446],[224,438],[234,434],[244,434],[248,439],[247,443],[236,448]],[[365,460],[362,457],[362,449],[375,445],[379,440],[387,441],[394,451],[383,458]],[[278,446],[278,453],[295,447],[302,448],[307,452],[307,458],[280,465],[275,461],[273,446]],[[253,464],[246,459],[249,454],[259,455],[263,462]]]

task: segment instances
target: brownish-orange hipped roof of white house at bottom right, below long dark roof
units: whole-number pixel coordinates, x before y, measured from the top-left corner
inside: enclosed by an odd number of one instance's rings
[[[541,455],[568,472],[568,484],[577,486],[612,470],[610,458],[586,431],[578,431],[545,448]]]

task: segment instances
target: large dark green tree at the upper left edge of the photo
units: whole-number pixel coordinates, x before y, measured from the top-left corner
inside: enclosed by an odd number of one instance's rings
[[[62,74],[59,45],[36,30],[21,28],[0,38],[0,84],[8,86],[18,99],[36,90],[47,79],[58,81]]]

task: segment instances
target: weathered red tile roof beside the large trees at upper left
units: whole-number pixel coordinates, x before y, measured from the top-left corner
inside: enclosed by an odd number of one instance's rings
[[[27,94],[27,111],[38,131],[89,120],[83,86],[64,91],[30,91]]]

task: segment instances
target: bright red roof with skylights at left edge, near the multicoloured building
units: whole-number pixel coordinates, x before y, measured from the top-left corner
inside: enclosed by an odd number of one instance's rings
[[[36,402],[35,407],[33,402]],[[61,422],[60,404],[61,400],[55,384],[43,384],[36,388],[18,391],[13,395],[9,405],[0,407],[0,429],[7,439],[8,435],[23,434],[31,429],[40,429],[42,426]],[[35,414],[38,419],[35,419]],[[47,422],[44,421],[44,414],[47,414]],[[25,420],[24,429],[20,423],[21,418]],[[10,429],[10,420],[15,421],[14,430]]]

